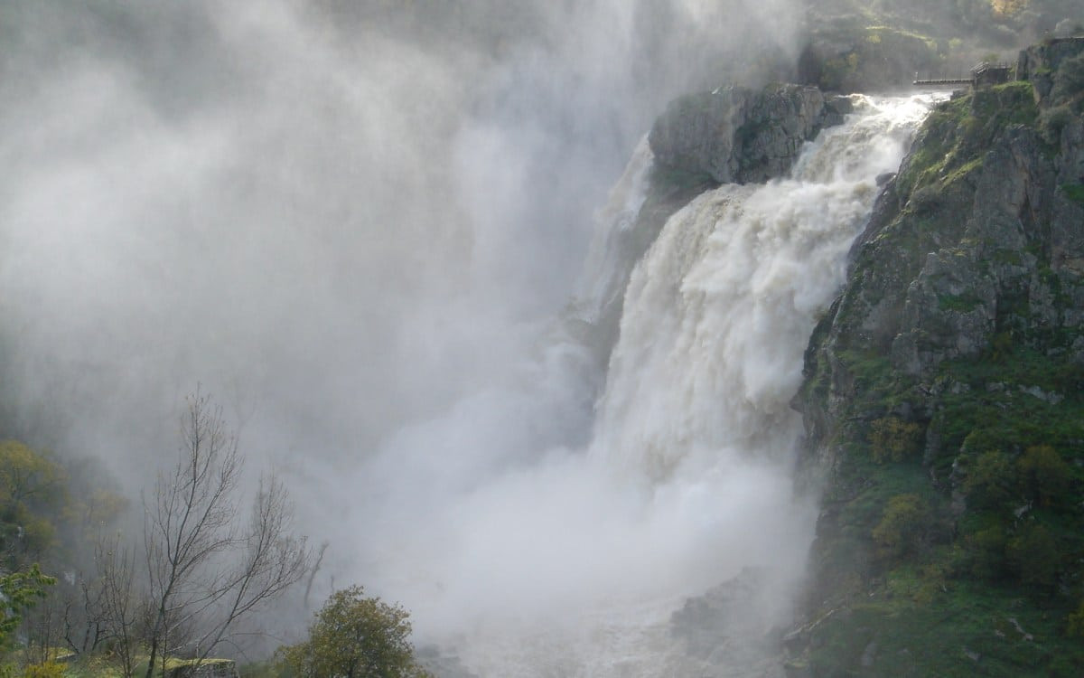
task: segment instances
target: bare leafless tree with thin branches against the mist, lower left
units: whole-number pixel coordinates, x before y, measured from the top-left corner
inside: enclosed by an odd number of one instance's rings
[[[298,581],[311,559],[305,538],[293,535],[293,507],[278,478],[261,479],[247,521],[238,519],[244,458],[221,408],[198,391],[188,398],[181,435],[177,465],[143,502],[146,678],[181,641],[205,658],[238,619]]]

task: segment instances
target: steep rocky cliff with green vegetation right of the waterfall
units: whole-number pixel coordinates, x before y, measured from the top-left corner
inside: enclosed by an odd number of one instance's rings
[[[1084,40],[1019,73],[930,115],[811,340],[796,676],[1084,671]]]

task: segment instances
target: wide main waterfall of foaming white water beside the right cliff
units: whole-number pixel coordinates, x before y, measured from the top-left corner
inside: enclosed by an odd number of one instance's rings
[[[927,110],[856,98],[791,177],[726,184],[667,222],[625,292],[593,451],[666,481],[790,452],[801,356],[846,253]]]

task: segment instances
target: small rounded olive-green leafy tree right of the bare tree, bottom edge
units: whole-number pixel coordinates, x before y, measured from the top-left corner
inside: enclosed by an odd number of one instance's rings
[[[286,667],[300,678],[421,678],[408,613],[360,586],[332,593],[309,639],[280,649]]]

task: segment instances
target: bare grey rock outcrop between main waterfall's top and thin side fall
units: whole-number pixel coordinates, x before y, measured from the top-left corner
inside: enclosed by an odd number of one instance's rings
[[[849,100],[815,87],[725,87],[674,100],[648,140],[664,167],[719,183],[756,183],[786,175],[802,144],[842,121]]]

